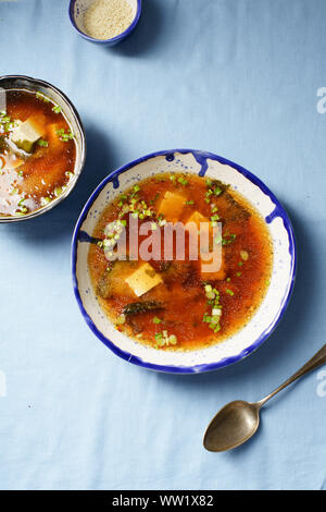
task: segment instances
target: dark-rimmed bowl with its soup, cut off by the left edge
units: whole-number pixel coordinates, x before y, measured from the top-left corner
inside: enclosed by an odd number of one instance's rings
[[[85,163],[85,132],[53,85],[0,77],[0,222],[49,211],[74,188]]]

